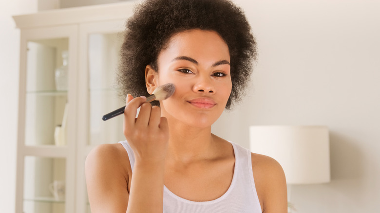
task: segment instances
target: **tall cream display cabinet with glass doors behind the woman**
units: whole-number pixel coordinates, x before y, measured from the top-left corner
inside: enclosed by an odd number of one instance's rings
[[[125,104],[114,76],[133,5],[14,17],[21,41],[16,213],[90,212],[85,158],[97,144],[124,140],[121,116],[101,118]]]

